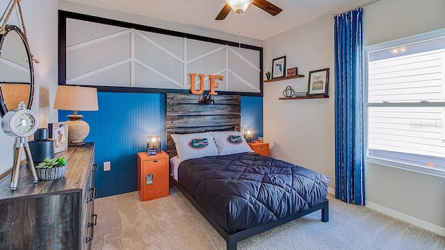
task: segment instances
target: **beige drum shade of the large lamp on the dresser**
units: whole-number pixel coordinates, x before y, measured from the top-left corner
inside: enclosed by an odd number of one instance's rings
[[[99,110],[97,89],[73,85],[58,85],[54,108],[59,110]]]

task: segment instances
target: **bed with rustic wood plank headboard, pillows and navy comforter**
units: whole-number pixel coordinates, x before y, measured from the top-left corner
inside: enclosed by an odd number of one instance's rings
[[[321,221],[328,221],[329,177],[261,156],[246,149],[247,144],[217,147],[221,137],[241,140],[234,131],[239,131],[241,97],[218,96],[216,105],[200,104],[200,97],[190,94],[167,94],[166,99],[170,185],[176,185],[220,233],[227,249],[318,210]],[[182,147],[181,140],[197,147],[205,144],[205,149],[193,155],[195,151]]]

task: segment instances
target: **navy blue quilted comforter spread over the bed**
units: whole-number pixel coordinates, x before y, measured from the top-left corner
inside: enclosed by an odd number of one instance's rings
[[[330,178],[257,153],[184,160],[178,182],[225,229],[252,228],[323,201]]]

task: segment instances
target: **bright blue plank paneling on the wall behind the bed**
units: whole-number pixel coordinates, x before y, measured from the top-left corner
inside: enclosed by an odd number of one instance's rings
[[[147,150],[147,135],[161,135],[165,149],[165,94],[98,92],[98,111],[79,111],[90,124],[86,142],[95,142],[97,197],[137,190],[136,153]],[[72,111],[59,110],[59,121]],[[241,127],[263,134],[263,98],[241,97]],[[104,172],[104,162],[111,171]]]

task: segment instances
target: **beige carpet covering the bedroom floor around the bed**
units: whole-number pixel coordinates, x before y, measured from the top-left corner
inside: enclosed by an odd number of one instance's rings
[[[257,249],[444,250],[445,238],[362,206],[330,199],[330,222],[321,213],[296,219],[238,242]],[[140,202],[138,193],[95,200],[97,226],[92,249],[223,250],[225,240],[177,190]]]

